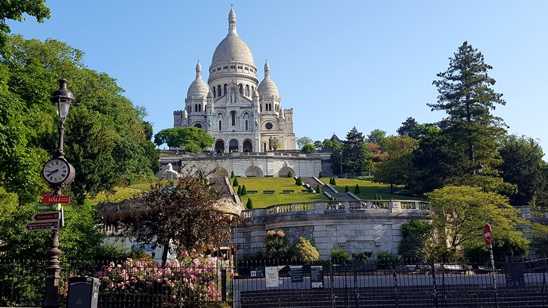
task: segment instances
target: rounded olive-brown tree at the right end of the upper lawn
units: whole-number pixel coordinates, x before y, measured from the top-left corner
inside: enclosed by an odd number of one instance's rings
[[[394,194],[394,184],[409,185],[414,179],[413,152],[419,142],[409,136],[386,138],[385,149],[388,156],[376,165],[375,181],[390,184],[390,194]]]

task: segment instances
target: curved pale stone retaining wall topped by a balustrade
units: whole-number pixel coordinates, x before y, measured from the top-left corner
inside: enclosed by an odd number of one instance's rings
[[[282,230],[289,243],[304,236],[315,244],[320,259],[329,259],[335,248],[396,254],[401,225],[412,218],[430,220],[432,211],[424,201],[357,200],[288,203],[242,214],[250,225],[233,229],[239,255],[264,253],[266,231]]]

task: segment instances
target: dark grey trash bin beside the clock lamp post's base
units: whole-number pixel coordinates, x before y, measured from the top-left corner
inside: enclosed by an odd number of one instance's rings
[[[67,308],[97,308],[99,279],[95,277],[69,278],[69,302]]]

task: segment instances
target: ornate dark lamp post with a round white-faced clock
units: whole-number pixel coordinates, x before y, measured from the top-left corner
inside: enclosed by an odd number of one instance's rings
[[[59,90],[51,95],[51,103],[57,107],[59,116],[59,147],[55,153],[55,157],[47,162],[42,169],[42,176],[47,181],[51,188],[53,196],[61,196],[62,189],[74,180],[74,167],[69,164],[64,158],[64,121],[69,114],[69,107],[74,104],[74,95],[66,89],[69,81],[66,79],[59,80]],[[60,225],[60,227],[62,227]],[[59,279],[61,267],[59,266],[59,230],[51,231],[51,248],[47,251],[47,267],[46,267],[46,290],[44,294],[44,303],[42,308],[58,308],[59,304]]]

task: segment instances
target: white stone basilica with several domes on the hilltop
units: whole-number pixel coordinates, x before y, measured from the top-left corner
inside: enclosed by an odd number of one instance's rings
[[[234,9],[228,25],[227,36],[213,53],[208,84],[201,79],[198,62],[185,108],[173,112],[173,126],[204,129],[214,138],[208,149],[214,153],[294,150],[293,110],[282,108],[269,63],[259,83],[251,50],[236,33]]]

